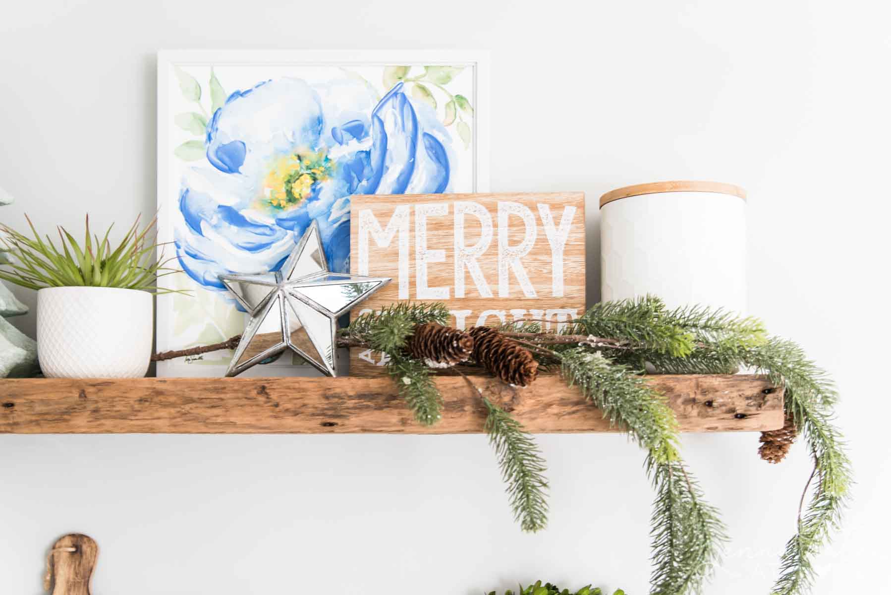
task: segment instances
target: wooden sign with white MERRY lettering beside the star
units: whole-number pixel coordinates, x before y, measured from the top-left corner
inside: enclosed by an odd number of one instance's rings
[[[351,318],[395,302],[445,302],[452,326],[544,328],[584,311],[584,193],[357,195],[350,269],[393,281]],[[350,350],[350,374],[386,356]]]

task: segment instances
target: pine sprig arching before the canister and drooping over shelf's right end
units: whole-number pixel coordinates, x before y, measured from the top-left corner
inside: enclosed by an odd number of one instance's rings
[[[745,366],[783,387],[785,409],[795,417],[813,457],[815,482],[811,486],[809,480],[805,487],[805,495],[809,488],[812,492],[811,500],[799,512],[797,533],[787,542],[772,593],[808,592],[814,579],[813,558],[830,541],[831,530],[838,528],[853,481],[845,443],[833,425],[832,407],[838,401],[835,384],[797,343],[766,335],[756,318],[699,306],[667,310],[660,304],[653,296],[598,304],[578,322],[597,329],[601,336],[629,339],[623,351],[605,351],[639,372],[644,362],[662,371],[687,374],[726,373]],[[649,321],[648,316],[652,317]],[[647,332],[641,326],[652,329]],[[666,343],[666,336],[671,336],[667,329],[672,328],[676,336],[689,336],[692,348],[688,353],[666,349],[671,343]]]

